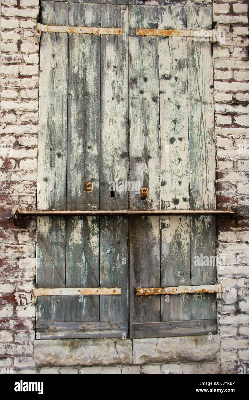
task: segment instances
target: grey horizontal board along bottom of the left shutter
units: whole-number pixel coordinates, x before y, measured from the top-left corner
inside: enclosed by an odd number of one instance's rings
[[[36,322],[36,339],[127,337],[127,321]]]

